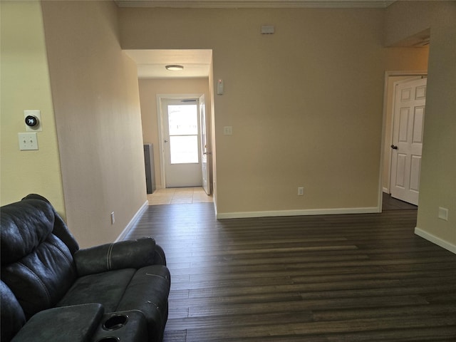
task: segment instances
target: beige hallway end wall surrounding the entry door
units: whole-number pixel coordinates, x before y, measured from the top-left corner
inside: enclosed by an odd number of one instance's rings
[[[160,145],[158,141],[157,95],[158,94],[204,94],[206,113],[210,127],[211,100],[207,78],[185,79],[140,79],[140,103],[142,117],[142,138],[145,144],[154,145],[155,185],[164,188],[161,182]],[[209,136],[210,139],[210,136]],[[210,150],[210,148],[209,148]]]

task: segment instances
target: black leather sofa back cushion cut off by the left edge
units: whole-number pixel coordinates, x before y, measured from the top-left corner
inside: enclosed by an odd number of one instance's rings
[[[0,280],[1,322],[0,341],[9,341],[26,323],[26,316],[16,296],[6,284]]]

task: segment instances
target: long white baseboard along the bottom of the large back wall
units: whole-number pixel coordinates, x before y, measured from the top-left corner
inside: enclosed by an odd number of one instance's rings
[[[333,214],[372,214],[380,212],[380,207],[271,210],[264,212],[219,212],[217,219],[242,219],[247,217],[308,216]]]

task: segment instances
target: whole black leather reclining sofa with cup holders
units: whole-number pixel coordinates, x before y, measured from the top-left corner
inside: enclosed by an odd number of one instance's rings
[[[1,215],[1,341],[162,341],[170,272],[152,238],[79,249],[46,198]]]

